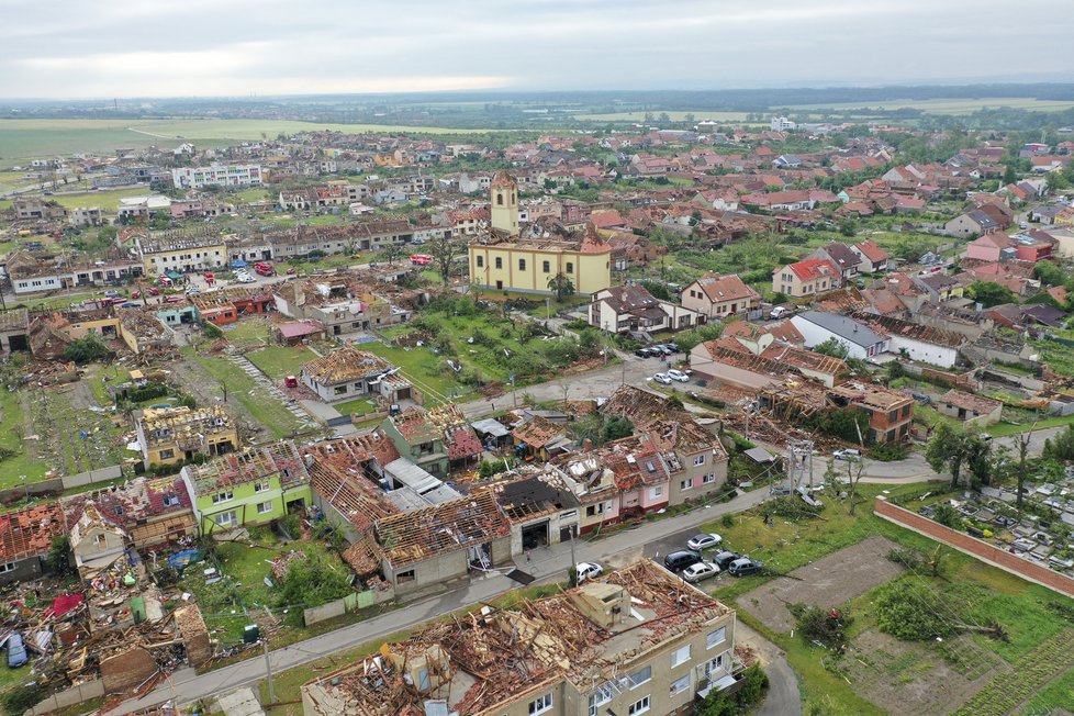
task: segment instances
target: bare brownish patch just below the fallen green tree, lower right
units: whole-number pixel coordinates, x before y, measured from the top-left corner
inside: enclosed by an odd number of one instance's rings
[[[857,693],[892,714],[948,714],[1010,667],[969,637],[944,645],[949,656],[882,634],[858,635],[838,662]]]

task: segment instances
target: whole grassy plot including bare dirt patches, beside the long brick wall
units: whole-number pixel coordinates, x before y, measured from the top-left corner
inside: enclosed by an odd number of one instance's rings
[[[943,496],[942,490],[936,484],[863,485],[865,501],[857,516],[849,514],[844,499],[826,493],[820,518],[795,510],[792,502],[790,513],[761,506],[702,528],[718,532],[731,549],[760,559],[770,571],[720,578],[714,593],[787,652],[801,678],[804,713],[971,716],[1047,713],[1071,703],[1074,620],[1065,615],[1074,601],[961,552],[937,552],[936,542],[871,511],[881,493],[916,510],[924,504],[920,497],[932,502]],[[888,557],[892,549],[916,550],[924,561],[896,563]],[[937,560],[935,573],[930,559]],[[1004,638],[989,636],[984,627],[921,641],[881,630],[876,604],[886,590],[902,584],[927,585],[942,595],[936,608],[948,623],[998,623]],[[804,638],[787,608],[792,603],[837,607],[849,617],[843,650]],[[1004,707],[996,708],[1000,701]],[[1019,711],[1027,708],[1034,711]]]

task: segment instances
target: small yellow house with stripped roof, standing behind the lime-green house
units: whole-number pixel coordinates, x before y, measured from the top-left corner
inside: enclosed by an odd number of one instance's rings
[[[146,467],[226,455],[239,447],[238,430],[223,405],[146,407],[135,414],[134,427]]]

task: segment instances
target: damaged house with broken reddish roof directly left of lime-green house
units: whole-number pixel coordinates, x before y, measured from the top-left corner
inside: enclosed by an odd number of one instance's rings
[[[102,518],[122,528],[136,549],[146,550],[198,535],[190,494],[179,477],[135,478],[123,484],[60,499],[67,524],[79,521],[89,503]]]

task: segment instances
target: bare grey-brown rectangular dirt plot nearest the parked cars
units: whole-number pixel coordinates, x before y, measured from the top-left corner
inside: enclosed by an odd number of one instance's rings
[[[770,629],[790,631],[794,618],[787,612],[788,603],[836,606],[898,577],[903,568],[886,557],[897,547],[890,539],[870,537],[853,547],[799,567],[790,577],[772,580],[745,594],[738,602]]]

